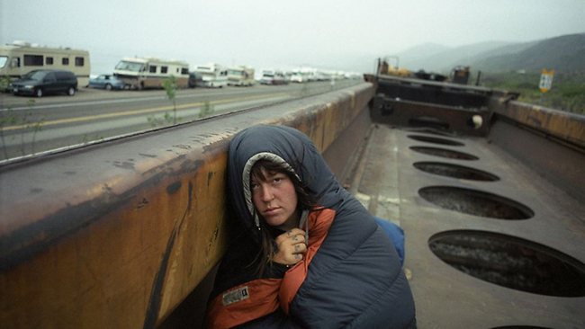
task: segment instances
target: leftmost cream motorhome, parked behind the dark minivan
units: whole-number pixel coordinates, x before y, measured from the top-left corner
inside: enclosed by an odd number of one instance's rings
[[[24,41],[0,46],[0,76],[11,80],[32,70],[62,69],[73,72],[79,85],[89,84],[89,52],[81,49],[40,47]]]

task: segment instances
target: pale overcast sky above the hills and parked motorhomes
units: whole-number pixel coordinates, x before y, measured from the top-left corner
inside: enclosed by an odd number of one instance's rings
[[[585,0],[0,0],[0,43],[126,56],[365,72],[424,43],[449,47],[585,32]]]

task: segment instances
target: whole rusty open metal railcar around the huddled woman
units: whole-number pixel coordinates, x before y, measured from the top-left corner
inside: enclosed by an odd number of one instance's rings
[[[274,123],[304,131],[349,191],[403,227],[419,327],[584,326],[585,120],[515,98],[366,76],[303,102],[7,164],[0,323],[201,325],[228,232],[227,143]],[[462,166],[497,179],[437,170]]]

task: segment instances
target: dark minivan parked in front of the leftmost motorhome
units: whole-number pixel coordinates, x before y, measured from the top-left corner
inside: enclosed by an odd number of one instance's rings
[[[29,94],[42,97],[49,93],[67,93],[73,96],[77,91],[77,77],[65,70],[34,70],[11,84],[14,94]]]

